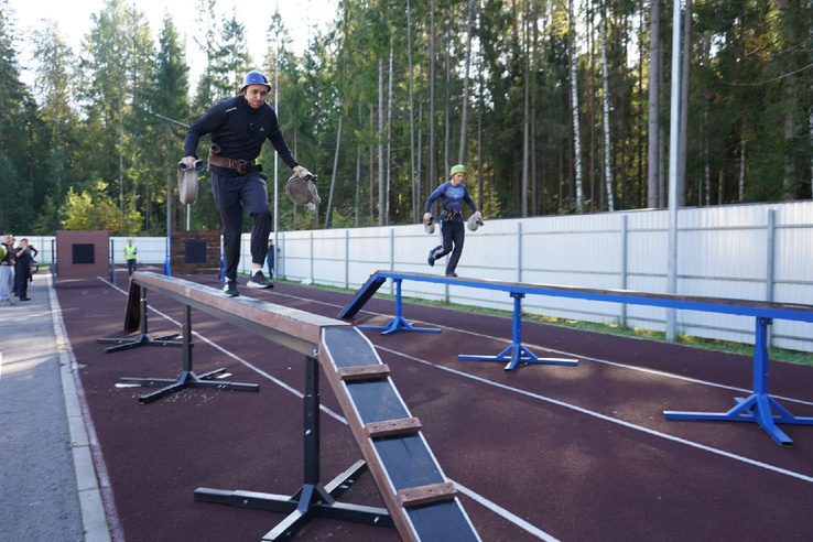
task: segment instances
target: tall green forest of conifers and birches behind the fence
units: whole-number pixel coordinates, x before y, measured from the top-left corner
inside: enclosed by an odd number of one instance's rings
[[[0,0],[0,229],[185,229],[184,124],[250,69],[319,176],[323,205],[305,212],[280,162],[281,230],[418,223],[457,163],[486,218],[668,205],[670,0],[343,0],[301,55],[279,13],[258,47],[216,6],[197,2],[207,64],[191,80],[169,15],[153,36],[143,12],[107,0],[74,51],[55,21],[23,35]],[[810,198],[813,0],[682,9],[679,205]],[[272,195],[270,145],[260,162]],[[219,229],[206,173],[188,223]]]

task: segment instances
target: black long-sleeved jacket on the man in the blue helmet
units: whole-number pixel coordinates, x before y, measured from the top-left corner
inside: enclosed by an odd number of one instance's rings
[[[206,133],[210,133],[212,142],[220,148],[220,156],[256,160],[268,139],[289,167],[300,165],[282,137],[274,108],[264,104],[260,109],[252,109],[242,95],[212,106],[186,130],[184,156],[197,158],[197,143]],[[223,176],[239,175],[236,170],[216,165],[209,165],[209,171]]]

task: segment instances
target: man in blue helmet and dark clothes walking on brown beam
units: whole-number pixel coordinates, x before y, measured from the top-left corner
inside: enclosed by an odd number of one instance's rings
[[[251,278],[249,288],[273,288],[262,274],[271,232],[271,210],[268,205],[268,176],[254,162],[262,143],[268,139],[278,154],[300,177],[308,171],[294,160],[282,137],[277,112],[265,102],[271,86],[259,72],[249,72],[242,83],[241,95],[216,104],[186,131],[184,162],[193,167],[197,159],[197,143],[202,136],[212,133],[209,173],[215,205],[224,229],[224,260],[226,286],[224,293],[240,295],[237,291],[237,263],[240,259],[242,209],[251,216]]]

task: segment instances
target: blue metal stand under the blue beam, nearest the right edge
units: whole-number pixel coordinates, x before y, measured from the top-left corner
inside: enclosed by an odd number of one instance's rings
[[[754,345],[754,393],[734,398],[735,406],[728,412],[664,411],[666,420],[716,420],[726,422],[756,422],[783,448],[793,447],[793,441],[778,423],[813,425],[813,418],[796,418],[768,394],[768,326],[771,318],[757,317],[757,335]],[[772,409],[772,410],[771,410]],[[773,414],[773,411],[777,414]]]

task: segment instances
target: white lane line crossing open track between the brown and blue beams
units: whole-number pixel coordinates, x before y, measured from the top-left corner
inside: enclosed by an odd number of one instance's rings
[[[590,415],[590,416],[594,416],[594,418],[598,418],[599,420],[604,420],[606,422],[610,422],[610,423],[615,423],[615,424],[618,424],[618,425],[622,425],[625,427],[629,427],[629,429],[635,430],[635,431],[640,431],[642,433],[648,433],[650,435],[658,436],[658,437],[661,437],[661,438],[665,438],[668,441],[673,441],[673,442],[676,442],[676,443],[685,444],[686,446],[692,446],[692,447],[697,448],[697,449],[703,449],[705,452],[711,452],[712,454],[722,455],[722,456],[728,457],[730,459],[736,459],[738,462],[747,463],[749,465],[754,465],[754,466],[759,467],[759,468],[765,468],[767,470],[772,470],[774,473],[779,473],[779,474],[782,474],[782,475],[785,475],[785,476],[790,476],[792,478],[798,478],[800,480],[813,483],[813,477],[811,477],[811,476],[806,476],[806,475],[803,475],[803,474],[800,474],[800,473],[794,473],[792,470],[788,470],[788,469],[784,469],[784,468],[781,468],[781,467],[769,465],[767,463],[762,463],[762,462],[758,462],[758,460],[755,460],[755,459],[750,459],[750,458],[744,457],[741,455],[731,454],[729,452],[725,452],[725,451],[718,449],[718,448],[713,448],[713,447],[706,446],[704,444],[698,444],[696,442],[686,441],[685,438],[681,438],[679,436],[672,436],[672,435],[669,435],[666,433],[661,433],[660,431],[654,431],[654,430],[651,430],[651,429],[648,429],[648,427],[643,427],[641,425],[636,425],[633,423],[625,422],[624,420],[618,420],[617,418],[610,418],[608,415],[600,414],[600,413],[594,412],[592,410],[583,409],[582,406],[576,406],[575,404],[570,404],[570,403],[565,403],[563,401],[557,401],[556,399],[551,399],[549,397],[540,395],[539,393],[532,393],[530,391],[520,390],[519,388],[513,388],[511,386],[506,386],[506,384],[502,384],[502,383],[499,383],[499,382],[494,382],[491,380],[487,380],[485,378],[480,378],[480,377],[477,377],[477,376],[474,376],[474,375],[469,375],[467,372],[458,371],[456,369],[451,369],[451,368],[444,367],[442,365],[435,365],[435,364],[433,364],[431,361],[426,361],[425,359],[420,359],[420,358],[416,358],[414,356],[409,356],[406,354],[403,354],[403,353],[400,353],[400,351],[397,351],[397,350],[391,350],[391,349],[384,348],[382,346],[377,346],[376,348],[379,349],[379,350],[388,351],[390,354],[394,354],[395,356],[401,356],[403,358],[411,359],[413,361],[418,361],[420,364],[427,365],[430,367],[434,367],[436,369],[441,369],[441,370],[444,370],[444,371],[453,372],[453,373],[458,375],[460,377],[469,378],[471,380],[476,380],[478,382],[483,382],[483,383],[488,384],[488,386],[494,386],[495,388],[501,388],[501,389],[507,390],[507,391],[512,391],[514,393],[527,395],[527,397],[530,397],[530,398],[533,398],[533,399],[539,399],[540,401],[544,401],[546,403],[555,404],[557,406],[563,406],[565,409],[574,410],[576,412],[581,412],[582,414],[587,414],[587,415]]]

